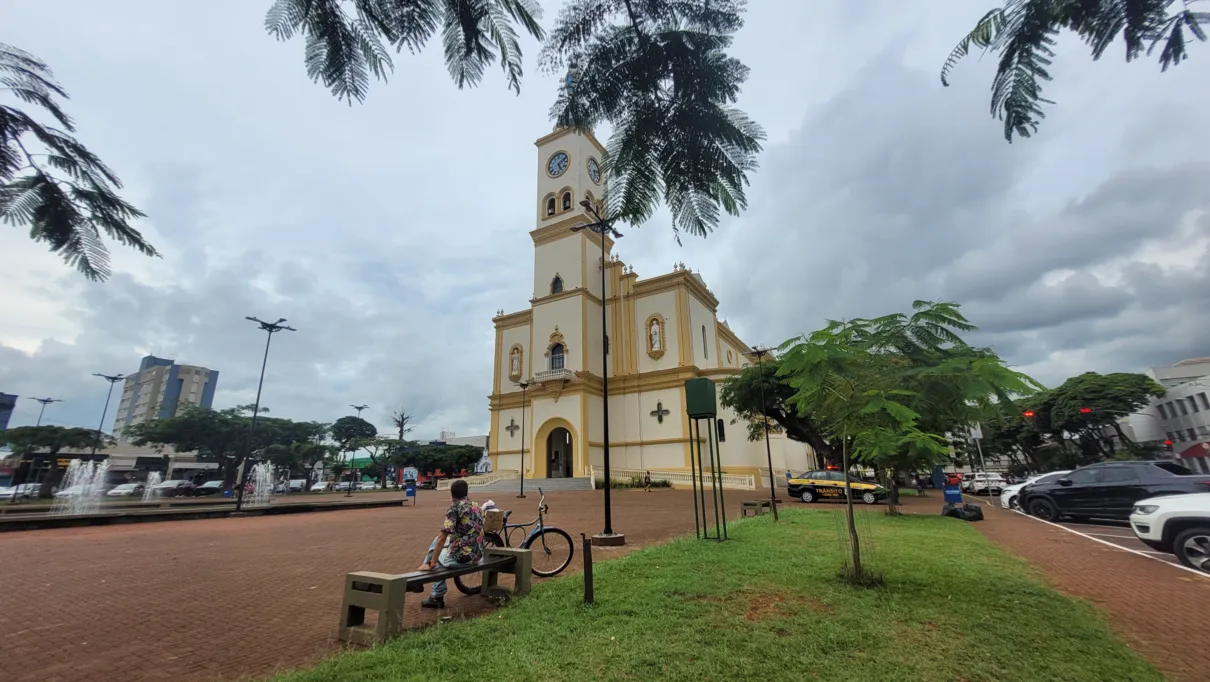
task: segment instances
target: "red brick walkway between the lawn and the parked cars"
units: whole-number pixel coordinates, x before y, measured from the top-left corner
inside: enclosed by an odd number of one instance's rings
[[[940,496],[905,498],[906,510],[940,511]],[[1210,680],[1210,578],[1164,566],[1048,526],[1016,511],[985,507],[974,527],[1036,566],[1059,591],[1088,600],[1113,630],[1171,680]]]

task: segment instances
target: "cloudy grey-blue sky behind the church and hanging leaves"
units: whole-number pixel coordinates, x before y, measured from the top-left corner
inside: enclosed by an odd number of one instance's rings
[[[257,316],[298,329],[273,339],[273,416],[365,404],[384,430],[402,409],[415,438],[486,433],[491,318],[529,306],[534,140],[552,131],[557,76],[529,40],[520,96],[499,69],[460,91],[434,41],[348,105],[307,79],[301,41],[265,33],[269,4],[0,10],[0,42],[52,67],[162,253],[113,245],[113,277],[91,283],[0,225],[11,426],[50,397],[64,403],[44,423],[96,428],[106,385],[92,374],[149,353],[219,370],[215,408],[252,403]],[[542,4],[549,27],[561,1]],[[984,5],[753,2],[738,105],[768,139],[748,210],[684,245],[661,210],[616,253],[640,278],[701,272],[750,345],[924,299],[962,304],[973,343],[1048,386],[1210,356],[1210,45],[1160,74],[1120,44],[1094,62],[1064,36],[1056,104],[1008,144],[989,115],[995,58],[938,79]]]

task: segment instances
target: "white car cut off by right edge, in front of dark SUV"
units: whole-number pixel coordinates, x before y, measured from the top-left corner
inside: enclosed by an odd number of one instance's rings
[[[1130,530],[1156,551],[1210,574],[1210,492],[1148,497],[1135,502]]]

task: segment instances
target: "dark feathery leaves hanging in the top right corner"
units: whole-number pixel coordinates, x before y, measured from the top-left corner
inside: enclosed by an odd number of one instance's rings
[[[1004,121],[1004,139],[1027,138],[1037,132],[1045,114],[1042,81],[1050,80],[1054,36],[1071,30],[1088,44],[1093,59],[1100,59],[1118,35],[1125,42],[1127,62],[1150,56],[1156,47],[1159,67],[1166,71],[1188,58],[1188,36],[1206,39],[1203,23],[1210,12],[1195,12],[1192,0],[1006,0],[979,19],[974,29],[950,52],[941,68],[941,83],[949,86],[949,73],[970,53],[972,46],[999,56],[991,85],[991,114]],[[1188,35],[1187,35],[1188,34]]]

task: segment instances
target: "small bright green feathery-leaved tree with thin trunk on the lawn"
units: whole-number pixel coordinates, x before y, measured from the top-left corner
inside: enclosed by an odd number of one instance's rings
[[[840,440],[848,486],[852,458],[889,472],[927,468],[949,456],[946,432],[978,421],[992,404],[1041,388],[986,348],[957,304],[915,301],[912,313],[829,320],[782,345],[778,376],[795,393],[785,400],[811,415],[820,434]],[[846,579],[866,583],[852,499],[846,496],[852,565]],[[894,496],[888,498],[894,513]]]

